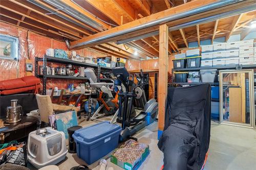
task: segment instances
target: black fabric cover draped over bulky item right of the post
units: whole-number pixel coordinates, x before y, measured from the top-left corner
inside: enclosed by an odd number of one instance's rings
[[[210,85],[169,87],[164,131],[158,148],[164,170],[197,170],[210,141]]]

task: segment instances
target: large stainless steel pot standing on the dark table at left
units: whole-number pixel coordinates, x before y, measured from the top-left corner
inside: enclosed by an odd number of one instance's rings
[[[6,108],[6,122],[13,124],[22,120],[22,106],[17,105],[18,100],[11,100],[11,106]]]

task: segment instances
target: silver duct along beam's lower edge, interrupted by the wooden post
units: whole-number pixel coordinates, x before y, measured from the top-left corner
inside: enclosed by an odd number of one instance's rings
[[[224,13],[221,13],[221,14],[212,15],[212,16],[208,16],[208,17],[205,17],[205,18],[197,19],[197,20],[194,20],[194,21],[181,23],[181,24],[176,25],[174,27],[169,27],[169,32],[170,31],[176,31],[176,30],[183,29],[183,28],[187,28],[187,27],[191,27],[191,26],[195,26],[195,25],[199,25],[199,24],[206,23],[206,22],[215,21],[217,19],[222,19],[222,18],[234,16],[234,15],[239,15],[239,14],[249,12],[249,11],[254,11],[255,9],[256,9],[256,4],[252,5],[252,6],[245,7],[245,8],[236,9],[236,10],[232,10],[232,11],[229,11],[229,12],[224,12]],[[152,37],[152,36],[155,36],[155,35],[158,35],[158,34],[159,34],[159,30],[151,32],[151,33],[143,34],[143,35],[140,35],[140,36],[137,36],[137,37],[123,39],[123,40],[117,41],[116,44],[123,44],[123,43],[126,43],[126,42],[136,41],[136,40],[139,40],[139,39]]]

